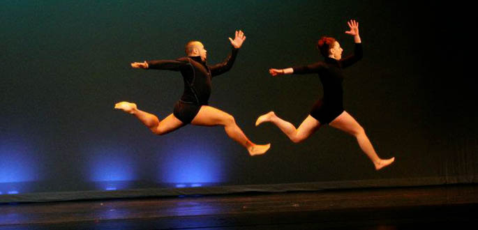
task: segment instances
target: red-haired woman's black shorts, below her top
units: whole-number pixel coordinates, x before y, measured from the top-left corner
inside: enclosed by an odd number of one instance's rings
[[[334,121],[343,112],[341,103],[324,103],[322,99],[315,102],[311,110],[311,116],[317,119],[320,124],[328,124]]]

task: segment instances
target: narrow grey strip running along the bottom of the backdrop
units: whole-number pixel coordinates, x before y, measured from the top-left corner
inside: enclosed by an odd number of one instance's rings
[[[90,199],[119,199],[139,197],[176,197],[181,195],[215,195],[235,194],[241,192],[295,192],[319,191],[335,189],[357,189],[378,187],[415,187],[427,185],[455,185],[478,183],[478,175],[426,177],[426,178],[394,178],[361,181],[325,181],[314,183],[287,183],[271,185],[224,185],[207,187],[163,187],[141,188],[134,190],[92,190],[75,192],[36,192],[25,194],[0,195],[0,204],[9,202],[47,202],[73,201]]]

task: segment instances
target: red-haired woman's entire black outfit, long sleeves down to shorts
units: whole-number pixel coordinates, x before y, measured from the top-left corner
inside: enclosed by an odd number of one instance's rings
[[[354,54],[336,60],[326,57],[324,61],[308,66],[294,67],[294,74],[318,73],[324,88],[324,96],[315,102],[311,116],[321,124],[327,124],[342,114],[343,109],[343,73],[342,69],[351,66],[363,56],[361,43],[355,43]]]

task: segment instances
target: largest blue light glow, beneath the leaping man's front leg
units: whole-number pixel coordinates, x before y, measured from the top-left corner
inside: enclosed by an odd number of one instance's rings
[[[163,183],[195,184],[219,183],[223,180],[218,153],[204,146],[181,146],[163,156],[158,178]]]

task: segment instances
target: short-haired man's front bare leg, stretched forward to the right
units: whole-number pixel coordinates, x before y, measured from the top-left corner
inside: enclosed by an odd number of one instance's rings
[[[231,139],[244,146],[250,155],[260,155],[269,150],[271,144],[258,145],[250,141],[241,128],[237,126],[234,117],[214,107],[203,105],[193,121],[193,125],[214,126],[223,125],[224,130]]]

